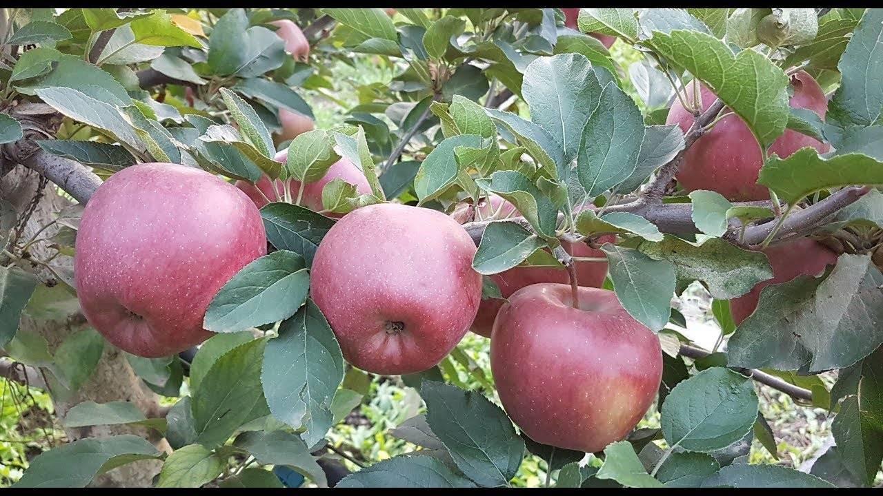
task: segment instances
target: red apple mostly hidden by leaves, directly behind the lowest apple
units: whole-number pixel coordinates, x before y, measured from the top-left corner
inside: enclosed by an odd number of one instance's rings
[[[483,218],[493,214],[497,208],[500,208],[501,203],[502,208],[499,218],[509,213],[516,216],[519,215],[515,206],[509,203],[509,201],[502,199],[502,197],[490,195],[489,198],[489,202],[487,199],[482,199],[481,203],[479,203],[479,210],[482,212]],[[612,242],[614,239],[614,236],[601,237],[600,242]],[[606,256],[604,252],[589,248],[585,243],[571,244],[562,242],[562,245],[566,252],[577,257],[603,258]],[[577,282],[579,282],[580,286],[600,288],[601,284],[604,283],[604,278],[607,276],[607,268],[607,262],[577,262]],[[489,277],[500,288],[500,294],[504,298],[510,297],[518,289],[538,282],[570,283],[570,276],[567,274],[567,271],[555,267],[513,267]],[[497,298],[482,300],[479,305],[479,312],[472,322],[472,332],[485,337],[491,337],[494,318],[497,312],[500,311],[503,303],[503,300]]]

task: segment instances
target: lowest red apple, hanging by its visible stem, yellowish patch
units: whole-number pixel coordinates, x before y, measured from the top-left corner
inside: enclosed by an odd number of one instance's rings
[[[491,370],[506,413],[532,440],[588,453],[622,440],[662,378],[659,339],[613,291],[518,289],[494,322]]]

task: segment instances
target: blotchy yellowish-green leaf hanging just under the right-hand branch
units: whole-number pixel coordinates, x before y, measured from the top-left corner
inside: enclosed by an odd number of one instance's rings
[[[697,245],[665,235],[660,243],[641,243],[638,250],[651,259],[674,265],[680,287],[693,281],[705,282],[712,296],[719,299],[740,297],[758,282],[773,278],[766,255],[743,250],[719,237]]]

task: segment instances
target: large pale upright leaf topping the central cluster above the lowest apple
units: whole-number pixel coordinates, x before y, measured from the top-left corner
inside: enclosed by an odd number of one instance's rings
[[[540,56],[527,66],[521,92],[531,121],[551,134],[564,149],[557,177],[566,182],[577,157],[583,130],[598,108],[602,88],[592,64],[580,54]]]

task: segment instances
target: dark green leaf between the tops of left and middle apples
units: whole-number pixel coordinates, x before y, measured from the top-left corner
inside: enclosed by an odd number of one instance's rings
[[[305,207],[290,203],[270,203],[260,209],[267,240],[278,250],[289,250],[304,257],[306,265],[313,265],[313,256],[334,219],[316,214]]]

